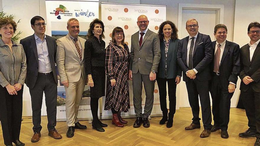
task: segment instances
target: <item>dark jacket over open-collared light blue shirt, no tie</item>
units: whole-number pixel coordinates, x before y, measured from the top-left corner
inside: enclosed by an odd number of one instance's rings
[[[48,53],[49,58],[51,62],[51,69],[52,74],[55,80],[55,83],[58,83],[57,81],[57,72],[55,68],[55,62],[56,62],[56,51],[57,51],[57,44],[56,40],[53,37],[50,37],[48,35],[46,36],[46,43],[48,46]],[[25,83],[27,87],[33,88],[35,86],[37,76],[38,76],[38,52],[36,47],[36,41],[34,34],[26,37],[22,40],[20,40],[20,44],[22,44],[25,55],[26,55],[26,63],[27,63],[27,74]]]

